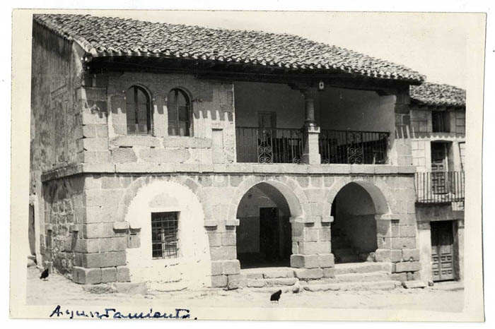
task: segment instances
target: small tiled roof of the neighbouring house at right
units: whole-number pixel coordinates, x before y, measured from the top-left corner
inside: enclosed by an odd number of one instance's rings
[[[453,85],[440,85],[437,83],[423,83],[411,85],[409,94],[412,102],[434,106],[466,106],[466,90]]]

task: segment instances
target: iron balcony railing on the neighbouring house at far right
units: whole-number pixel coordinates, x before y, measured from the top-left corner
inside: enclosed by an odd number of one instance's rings
[[[417,172],[414,176],[417,203],[464,201],[464,172]]]

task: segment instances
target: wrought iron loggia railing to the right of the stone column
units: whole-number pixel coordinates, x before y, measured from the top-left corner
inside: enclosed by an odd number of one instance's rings
[[[322,130],[322,163],[385,164],[390,133],[375,131]]]

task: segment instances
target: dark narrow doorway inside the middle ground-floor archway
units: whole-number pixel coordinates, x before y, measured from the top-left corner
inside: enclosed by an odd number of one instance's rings
[[[260,208],[260,251],[266,261],[275,261],[279,250],[279,210]]]

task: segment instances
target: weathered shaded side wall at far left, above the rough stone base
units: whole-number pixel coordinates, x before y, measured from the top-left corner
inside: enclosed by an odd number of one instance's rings
[[[81,162],[81,56],[76,44],[33,22],[30,204],[40,265],[46,239],[42,173]]]

